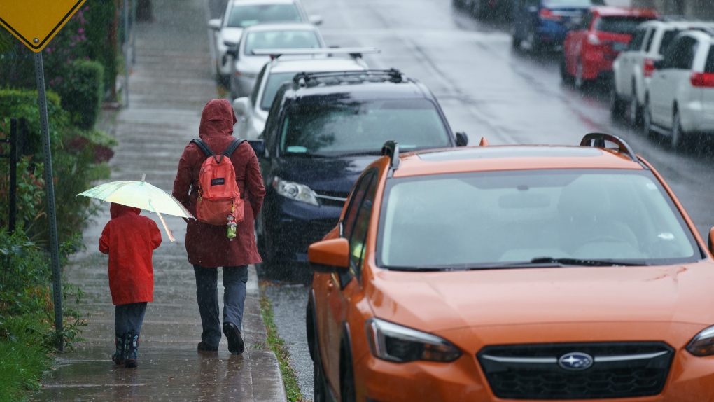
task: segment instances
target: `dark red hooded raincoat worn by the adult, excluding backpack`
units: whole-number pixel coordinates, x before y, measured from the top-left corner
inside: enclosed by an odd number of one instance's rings
[[[233,124],[236,124],[233,106],[226,99],[208,101],[201,115],[201,127],[198,136],[208,145],[214,154],[223,154],[231,144]],[[190,143],[183,149],[178,161],[178,172],[174,180],[173,195],[196,216],[198,174],[201,164],[206,160],[200,148]],[[243,142],[231,154],[231,164],[236,169],[236,182],[241,191],[243,203],[243,221],[236,227],[233,241],[226,237],[226,226],[209,225],[196,220],[189,220],[186,228],[186,251],[188,261],[193,265],[206,268],[218,266],[241,266],[262,262],[253,231],[253,221],[261,211],[266,195],[263,186],[258,157],[247,142]],[[226,220],[226,224],[228,221]]]

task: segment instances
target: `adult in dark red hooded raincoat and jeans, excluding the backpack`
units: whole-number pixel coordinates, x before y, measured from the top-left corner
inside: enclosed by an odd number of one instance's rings
[[[203,108],[198,136],[214,154],[223,154],[233,141],[236,124],[233,106],[226,99],[213,99]],[[198,174],[206,160],[196,144],[183,149],[178,161],[173,195],[196,215]],[[223,333],[228,338],[228,351],[243,353],[241,325],[243,303],[246,300],[248,265],[262,262],[256,246],[253,221],[260,212],[265,198],[265,186],[258,166],[258,157],[247,142],[231,154],[236,169],[236,182],[244,199],[243,221],[236,227],[236,238],[226,236],[226,226],[214,226],[196,220],[188,221],[186,251],[188,261],[196,274],[196,298],[201,313],[203,333],[199,351],[217,351],[221,341],[221,323],[218,319],[217,267],[223,267]],[[226,221],[227,223],[227,221]]]

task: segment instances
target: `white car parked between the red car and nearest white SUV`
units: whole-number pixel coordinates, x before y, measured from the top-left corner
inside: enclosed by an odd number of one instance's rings
[[[707,21],[646,21],[638,26],[628,49],[613,62],[613,86],[610,89],[610,111],[613,118],[625,117],[631,126],[642,124],[642,105],[655,71],[655,61],[662,55],[672,39],[681,31],[696,28],[714,28]]]

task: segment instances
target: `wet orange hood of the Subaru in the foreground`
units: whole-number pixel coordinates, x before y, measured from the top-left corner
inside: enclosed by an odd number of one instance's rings
[[[377,269],[375,315],[423,331],[538,323],[714,323],[714,263],[399,272]]]

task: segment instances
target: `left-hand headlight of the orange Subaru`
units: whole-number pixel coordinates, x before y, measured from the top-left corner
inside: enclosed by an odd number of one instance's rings
[[[368,319],[366,331],[372,354],[386,361],[448,362],[461,356],[461,351],[446,339],[379,318]]]

